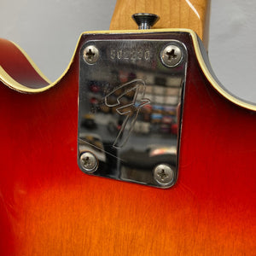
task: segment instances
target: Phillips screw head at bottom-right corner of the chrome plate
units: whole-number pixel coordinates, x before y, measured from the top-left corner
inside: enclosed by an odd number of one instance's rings
[[[171,166],[161,164],[154,168],[154,180],[160,185],[166,186],[172,183],[174,177],[174,171]]]

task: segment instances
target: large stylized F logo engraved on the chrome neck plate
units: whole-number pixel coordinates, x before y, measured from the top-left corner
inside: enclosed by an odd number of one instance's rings
[[[136,123],[138,113],[150,100],[143,98],[146,84],[142,79],[134,79],[126,84],[122,84],[105,96],[105,104],[110,108],[115,108],[121,116],[125,116],[119,133],[113,143],[114,148],[122,148],[131,136],[131,131]],[[111,97],[115,96],[115,102]]]

